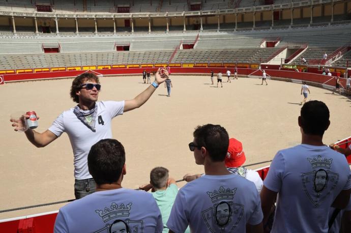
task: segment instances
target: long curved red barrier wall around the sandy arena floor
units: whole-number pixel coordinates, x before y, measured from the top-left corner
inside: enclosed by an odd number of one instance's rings
[[[93,70],[89,72],[95,72],[96,74],[102,75],[122,75],[122,74],[140,74],[143,70],[154,72],[157,68],[121,68],[121,69],[103,69],[103,70]],[[215,73],[221,71],[223,74],[227,71],[226,68],[202,68],[202,67],[172,67],[171,73],[189,73],[189,74],[210,74],[211,70]],[[229,68],[229,70],[233,73],[234,69]],[[286,70],[269,70],[266,69],[266,73],[268,76],[272,77],[280,77],[280,78],[287,78],[287,79],[298,79],[298,80],[305,80],[317,83],[325,83],[328,85],[335,85],[335,79],[328,75],[321,75],[321,74],[314,74],[314,73],[305,73],[305,72],[295,72],[295,71],[286,71]],[[50,79],[50,78],[62,78],[62,77],[75,77],[79,74],[82,74],[88,71],[56,71],[56,72],[40,72],[40,73],[23,73],[23,74],[4,74],[5,82],[8,81],[21,81],[21,80],[35,80],[35,79]],[[245,69],[245,68],[238,68],[239,75],[255,75],[261,76],[262,71],[257,69]],[[342,86],[345,87],[346,80],[340,79]]]

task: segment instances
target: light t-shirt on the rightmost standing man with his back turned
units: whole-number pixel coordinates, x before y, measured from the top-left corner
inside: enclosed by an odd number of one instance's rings
[[[328,232],[330,207],[350,177],[345,156],[325,145],[278,151],[264,180],[278,192],[271,232]]]

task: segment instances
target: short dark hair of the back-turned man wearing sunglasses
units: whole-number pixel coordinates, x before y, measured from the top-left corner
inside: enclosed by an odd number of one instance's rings
[[[213,162],[224,161],[228,151],[229,136],[222,126],[212,124],[197,126],[193,135],[196,144],[206,148]]]

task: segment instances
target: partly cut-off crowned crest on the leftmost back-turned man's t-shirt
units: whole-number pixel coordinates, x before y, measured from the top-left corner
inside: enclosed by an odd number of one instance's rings
[[[132,202],[126,205],[122,203],[120,206],[112,202],[110,207],[105,207],[103,210],[95,210],[95,213],[101,218],[102,223],[106,224],[103,228],[94,231],[94,233],[144,232],[142,220],[129,219],[131,207]]]

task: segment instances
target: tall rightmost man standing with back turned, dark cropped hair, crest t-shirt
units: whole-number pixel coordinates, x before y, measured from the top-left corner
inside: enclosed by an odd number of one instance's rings
[[[298,123],[301,144],[278,151],[264,180],[260,194],[264,222],[279,193],[271,232],[328,232],[330,207],[343,209],[349,201],[350,168],[345,157],[323,143],[330,125],[325,103],[305,103]],[[328,176],[317,177],[317,171]]]

